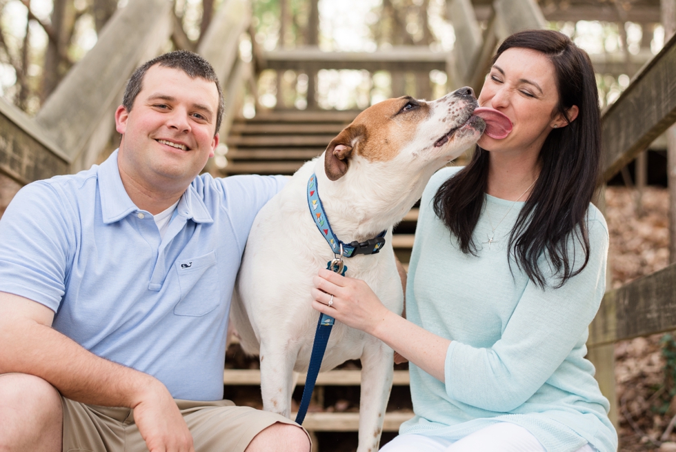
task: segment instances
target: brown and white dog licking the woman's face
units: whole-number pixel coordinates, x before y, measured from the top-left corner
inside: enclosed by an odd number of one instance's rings
[[[294,371],[305,373],[319,313],[310,288],[334,255],[308,208],[306,186],[317,175],[326,217],[341,241],[364,242],[388,230],[378,254],[344,259],[391,311],[404,294],[392,250],[392,226],[420,198],[430,177],[470,147],[486,124],[477,100],[461,88],[436,101],[390,99],[363,112],[308,161],[255,219],[241,262],[232,320],[244,351],[259,354],[264,409],[288,417]],[[336,322],[321,371],[361,360],[359,452],[376,451],[392,386],[392,349]]]

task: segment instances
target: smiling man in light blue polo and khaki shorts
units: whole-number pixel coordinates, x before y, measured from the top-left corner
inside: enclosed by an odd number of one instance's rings
[[[13,199],[0,221],[1,451],[309,451],[297,424],[221,400],[241,253],[286,181],[198,176],[222,112],[209,63],[162,55],[128,83],[119,150]]]

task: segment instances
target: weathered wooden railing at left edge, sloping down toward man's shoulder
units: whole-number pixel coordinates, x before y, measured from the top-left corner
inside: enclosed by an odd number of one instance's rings
[[[0,99],[0,173],[26,185],[68,173],[70,159],[24,112]]]

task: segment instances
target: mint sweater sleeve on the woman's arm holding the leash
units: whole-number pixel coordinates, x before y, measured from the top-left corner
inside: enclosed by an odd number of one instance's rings
[[[574,348],[584,347],[604,295],[608,253],[605,222],[592,209],[597,217],[590,215],[590,256],[581,273],[560,288],[543,290],[528,282],[504,333],[490,348],[451,342],[444,369],[450,397],[481,409],[512,411],[535,394]],[[574,242],[571,256],[579,262],[582,248]],[[556,280],[549,278],[550,284]]]

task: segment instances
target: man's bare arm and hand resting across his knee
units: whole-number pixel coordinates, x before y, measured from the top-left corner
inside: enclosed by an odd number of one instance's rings
[[[27,373],[72,400],[134,409],[148,449],[194,451],[186,422],[155,377],[104,360],[51,328],[54,313],[37,302],[0,292],[0,373]]]

